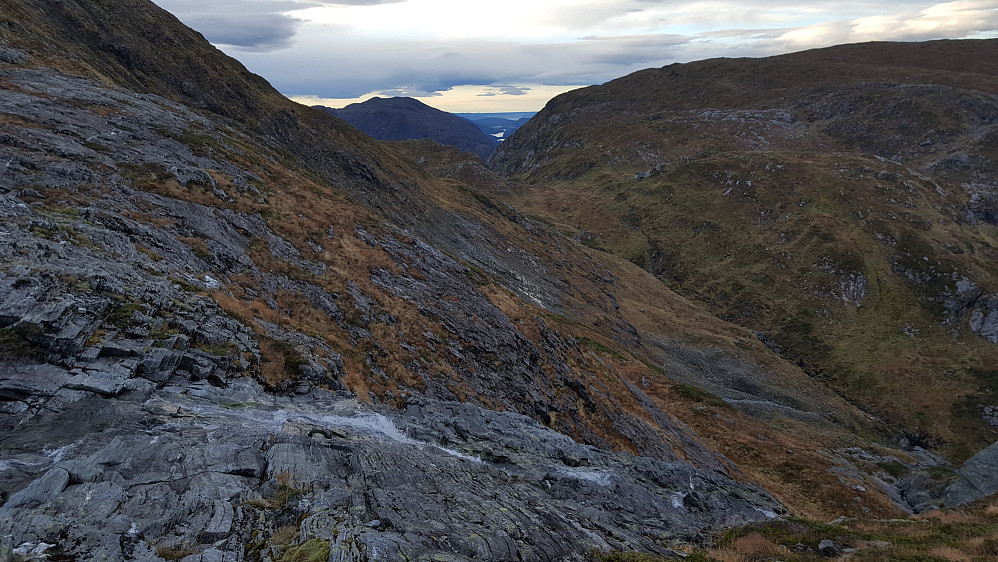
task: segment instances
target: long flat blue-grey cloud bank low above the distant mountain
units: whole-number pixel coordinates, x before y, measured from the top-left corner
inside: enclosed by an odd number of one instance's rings
[[[311,48],[302,38],[294,52],[242,53],[239,58],[287,95],[353,98],[393,89],[438,92],[459,85],[601,83],[673,62],[689,41],[648,35],[555,44],[465,40],[441,46],[344,33]],[[439,56],[441,52],[447,56]],[[339,53],[348,55],[336,56]],[[513,90],[486,91],[515,95]]]

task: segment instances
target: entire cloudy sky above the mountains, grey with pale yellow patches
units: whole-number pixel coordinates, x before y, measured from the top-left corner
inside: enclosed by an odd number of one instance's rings
[[[642,68],[873,40],[998,37],[998,0],[154,0],[310,105],[405,95],[536,111]]]

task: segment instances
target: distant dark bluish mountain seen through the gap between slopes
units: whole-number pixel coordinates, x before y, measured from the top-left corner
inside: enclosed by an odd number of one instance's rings
[[[430,139],[487,160],[496,139],[477,125],[413,98],[371,98],[341,109],[322,108],[378,140]]]

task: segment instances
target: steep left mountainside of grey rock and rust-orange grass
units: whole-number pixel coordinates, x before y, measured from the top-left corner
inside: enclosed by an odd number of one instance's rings
[[[670,556],[993,484],[151,2],[0,0],[0,100],[0,558]]]

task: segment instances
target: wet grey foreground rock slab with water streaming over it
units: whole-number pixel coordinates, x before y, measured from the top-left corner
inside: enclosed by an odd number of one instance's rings
[[[762,490],[685,462],[581,445],[530,418],[413,398],[375,409],[178,371],[81,389],[64,367],[0,365],[0,552],[87,559],[189,549],[254,560],[280,528],[333,560],[572,560],[667,554],[663,537],[772,518]],[[269,551],[268,551],[269,552]]]

